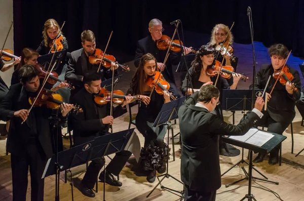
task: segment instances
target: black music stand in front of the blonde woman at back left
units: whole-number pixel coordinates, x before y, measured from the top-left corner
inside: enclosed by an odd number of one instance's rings
[[[47,69],[47,67],[50,66],[50,62],[53,58],[53,55],[54,55],[54,59],[53,59],[53,64],[54,62],[56,61],[56,65],[54,66],[54,69],[56,71],[56,69],[58,68],[58,66],[61,64],[62,62],[62,59],[65,58],[65,55],[66,55],[66,52],[67,50],[62,50],[62,51],[58,51],[58,52],[54,52],[54,53],[50,53],[50,54],[46,54],[46,55],[42,55],[40,57],[37,58],[37,62],[43,66],[45,66],[46,70],[49,70]]]

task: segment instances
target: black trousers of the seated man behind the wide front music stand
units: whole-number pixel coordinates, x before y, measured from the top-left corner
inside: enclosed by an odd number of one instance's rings
[[[111,162],[107,165],[106,171],[118,176],[119,173],[124,168],[127,163],[129,157],[131,156],[130,151],[123,150],[115,154],[115,157],[112,158]],[[88,170],[82,180],[82,184],[90,189],[94,188],[95,183],[97,181],[97,176],[104,166],[105,160],[104,158],[97,158],[92,160],[90,163]]]

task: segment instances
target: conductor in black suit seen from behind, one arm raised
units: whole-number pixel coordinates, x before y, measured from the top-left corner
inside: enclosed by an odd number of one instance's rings
[[[215,200],[216,190],[221,186],[219,135],[244,135],[262,116],[260,111],[264,101],[258,97],[253,112],[237,126],[227,124],[210,113],[217,104],[219,90],[213,85],[205,85],[178,110],[185,201]]]

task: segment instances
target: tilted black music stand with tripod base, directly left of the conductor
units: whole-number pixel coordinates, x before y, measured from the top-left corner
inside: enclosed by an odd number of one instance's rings
[[[173,179],[175,179],[176,181],[178,181],[179,183],[183,184],[181,181],[179,181],[178,179],[176,179],[175,177],[173,177],[172,175],[169,174],[169,127],[171,127],[171,124],[169,124],[168,122],[170,122],[171,120],[174,120],[174,119],[177,119],[178,118],[178,109],[179,107],[182,105],[183,101],[185,100],[185,96],[181,97],[181,98],[178,98],[174,101],[171,101],[169,103],[166,103],[163,105],[160,113],[158,114],[157,118],[155,119],[155,122],[154,122],[154,127],[157,127],[157,126],[160,126],[160,125],[167,125],[167,130],[168,130],[168,143],[167,143],[167,148],[168,148],[168,151],[167,151],[167,170],[166,170],[166,173],[165,174],[162,174],[160,176],[157,177],[157,179],[159,180],[158,184],[149,192],[149,194],[147,194],[146,197],[149,197],[151,193],[153,193],[153,191],[158,187],[158,185],[161,184],[161,188],[163,189],[166,189],[168,190],[169,192],[179,196],[181,199],[183,197],[183,194],[184,194],[184,191],[178,191],[178,190],[174,190],[174,189],[171,189],[171,188],[167,188],[165,186],[162,185],[162,181],[165,179],[165,178],[168,178],[171,177]],[[172,129],[171,129],[172,131]],[[173,131],[172,131],[172,136],[173,136]],[[173,152],[174,152],[174,144],[172,145],[172,149],[173,149]],[[163,177],[161,180],[159,179],[160,177]],[[177,192],[177,193],[180,193],[181,195],[178,195],[174,192]]]

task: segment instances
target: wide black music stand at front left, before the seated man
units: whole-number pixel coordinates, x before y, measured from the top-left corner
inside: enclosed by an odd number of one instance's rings
[[[61,151],[58,153],[58,164],[56,163],[56,155],[53,154],[47,162],[42,178],[58,174],[58,181],[56,179],[56,182],[58,182],[59,186],[60,171],[68,170],[70,168],[86,164],[87,162],[93,159],[103,157],[112,153],[117,153],[123,150],[126,147],[130,137],[132,136],[133,131],[134,128],[125,131],[120,131],[117,133],[103,135],[100,137],[96,137],[94,138],[94,140],[89,141],[85,144],[74,146],[70,149]],[[71,171],[69,170],[68,172]],[[73,200],[72,182],[71,189]],[[103,187],[103,200],[105,200],[105,182]]]

